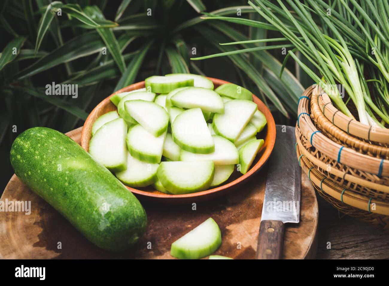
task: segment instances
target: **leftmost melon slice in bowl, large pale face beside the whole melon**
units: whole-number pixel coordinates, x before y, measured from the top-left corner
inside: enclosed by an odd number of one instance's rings
[[[127,125],[117,118],[100,127],[89,141],[89,154],[112,172],[126,170]]]

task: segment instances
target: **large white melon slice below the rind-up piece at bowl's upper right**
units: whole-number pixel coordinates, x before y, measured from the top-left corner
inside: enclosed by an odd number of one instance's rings
[[[235,142],[256,110],[257,105],[252,101],[231,100],[224,104],[224,114],[214,115],[212,127],[217,135]]]

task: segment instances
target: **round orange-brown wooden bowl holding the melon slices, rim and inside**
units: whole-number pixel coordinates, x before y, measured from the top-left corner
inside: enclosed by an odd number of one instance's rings
[[[213,83],[215,88],[224,83],[229,83],[227,81],[222,81],[220,79],[214,79],[212,77],[208,77]],[[134,89],[144,88],[145,82],[137,82],[122,88],[112,95],[116,93],[131,91]],[[112,104],[109,98],[112,96],[105,98],[100,104],[98,104],[93,111],[89,114],[86,119],[84,126],[82,127],[81,133],[81,146],[86,151],[89,151],[89,140],[91,139],[91,130],[92,125],[96,121],[96,119],[109,112],[116,110],[116,106]],[[185,195],[168,195],[165,193],[161,193],[151,186],[145,188],[134,189],[131,187],[127,187],[132,193],[134,193],[140,200],[149,200],[152,202],[164,203],[164,204],[185,204],[185,203],[193,203],[200,202],[204,200],[209,200],[211,198],[219,197],[221,195],[225,195],[228,191],[233,189],[237,189],[238,186],[241,186],[242,182],[244,182],[247,178],[257,172],[259,169],[263,167],[263,165],[268,160],[270,154],[272,153],[274,142],[275,142],[275,123],[270,110],[266,107],[266,105],[259,100],[255,95],[252,96],[254,102],[258,105],[259,111],[261,111],[266,116],[267,125],[266,127],[257,134],[258,139],[264,139],[265,143],[259,150],[256,159],[253,162],[251,169],[244,175],[235,170],[233,174],[230,176],[228,181],[225,184],[218,186],[213,189],[208,189],[206,191],[200,191],[197,193],[185,194]]]

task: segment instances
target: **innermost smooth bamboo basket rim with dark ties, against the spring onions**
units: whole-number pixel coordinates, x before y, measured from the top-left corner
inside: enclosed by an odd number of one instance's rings
[[[356,137],[389,144],[389,129],[376,128],[375,132],[371,132],[371,126],[360,123],[355,118],[350,118],[342,112],[338,112],[339,110],[332,104],[327,93],[322,92],[321,89],[319,90],[319,86],[316,87],[317,89],[314,92],[319,97],[320,109],[323,110],[325,106],[323,114],[328,120],[333,120],[334,125]]]

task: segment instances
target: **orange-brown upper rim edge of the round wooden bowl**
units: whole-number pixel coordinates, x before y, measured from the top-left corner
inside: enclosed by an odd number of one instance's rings
[[[212,77],[207,77],[207,78],[210,79],[214,84],[216,83],[216,84],[221,85],[221,84],[224,84],[224,83],[230,83],[228,81],[223,81],[221,79],[215,79],[215,78],[212,78]],[[102,102],[100,102],[98,105],[96,105],[96,107],[91,111],[91,113],[89,114],[88,118],[86,119],[86,121],[84,123],[84,126],[82,127],[81,146],[82,146],[82,148],[84,148],[84,150],[86,150],[86,151],[89,150],[89,135],[87,136],[87,132],[89,132],[89,134],[90,134],[91,130],[87,130],[86,126],[87,126],[87,123],[89,121],[93,120],[95,112],[97,112],[101,107],[109,104],[110,103],[110,99],[109,98],[112,97],[112,95],[115,95],[116,93],[131,91],[131,90],[134,90],[134,89],[144,88],[144,87],[145,87],[145,82],[144,81],[131,84],[129,86],[126,86],[125,88],[119,89],[115,93],[112,93],[109,97],[105,98]],[[169,195],[169,194],[165,194],[165,193],[161,193],[161,192],[160,193],[151,193],[149,191],[142,191],[140,189],[134,189],[134,188],[131,188],[131,187],[128,187],[128,186],[126,186],[126,187],[132,193],[135,193],[135,194],[138,194],[138,195],[142,195],[142,196],[145,196],[145,197],[166,198],[166,199],[196,198],[196,197],[210,195],[210,194],[213,194],[213,193],[216,193],[216,192],[219,192],[219,191],[226,190],[226,189],[231,188],[231,187],[237,185],[238,183],[244,181],[248,177],[250,177],[256,171],[258,171],[261,167],[263,167],[263,165],[265,165],[266,161],[270,157],[270,154],[273,151],[273,147],[274,147],[274,143],[275,143],[275,135],[276,135],[275,122],[274,122],[274,118],[272,116],[272,113],[270,112],[268,107],[258,97],[256,97],[254,94],[253,94],[253,99],[254,99],[254,102],[258,105],[259,110],[261,110],[261,112],[263,112],[263,114],[265,114],[265,117],[266,117],[266,120],[267,120],[267,128],[268,128],[267,135],[266,135],[266,140],[268,140],[268,142],[266,144],[266,149],[263,150],[263,153],[262,153],[261,157],[259,158],[258,162],[246,174],[238,177],[237,179],[235,179],[232,182],[229,182],[228,184],[225,184],[225,185],[222,185],[222,186],[218,186],[218,187],[213,188],[213,189],[207,189],[205,191],[199,191],[199,192],[196,192],[196,193],[190,193],[190,194],[184,194],[184,195]],[[92,124],[90,124],[89,126],[92,126]],[[262,150],[260,150],[260,151],[262,151]]]

